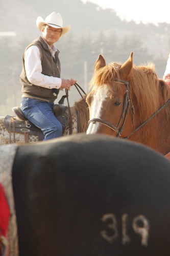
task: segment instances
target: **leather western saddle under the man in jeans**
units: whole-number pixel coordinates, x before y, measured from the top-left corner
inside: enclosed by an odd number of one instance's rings
[[[70,117],[65,113],[67,110],[67,106],[64,104],[65,97],[66,95],[63,95],[61,100],[54,105],[54,115],[62,124],[63,134],[70,120]],[[39,141],[43,140],[42,131],[23,115],[19,106],[15,106],[12,110],[16,116],[7,115],[4,118],[4,125],[10,134],[23,133],[26,142],[29,142],[29,135],[38,136]]]

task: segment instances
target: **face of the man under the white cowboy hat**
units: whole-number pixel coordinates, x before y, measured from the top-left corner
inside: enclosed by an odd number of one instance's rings
[[[52,28],[48,25],[42,27],[42,36],[48,45],[53,45],[57,42],[61,36],[62,29]]]

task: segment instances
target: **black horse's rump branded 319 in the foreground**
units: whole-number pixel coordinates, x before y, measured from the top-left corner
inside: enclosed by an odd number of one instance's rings
[[[169,256],[170,162],[107,135],[18,146],[19,256]]]

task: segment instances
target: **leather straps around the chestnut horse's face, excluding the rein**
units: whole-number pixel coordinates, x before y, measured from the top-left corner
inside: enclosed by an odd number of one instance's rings
[[[133,120],[134,120],[135,110],[134,110],[134,107],[133,107],[133,104],[132,104],[132,100],[131,100],[131,97],[130,97],[130,93],[129,93],[129,82],[124,81],[122,79],[114,79],[114,82],[123,83],[123,84],[125,84],[125,86],[127,88],[125,96],[124,96],[124,106],[123,106],[122,115],[120,116],[120,120],[118,122],[117,127],[114,126],[113,124],[111,124],[111,123],[101,119],[101,118],[92,118],[92,119],[90,119],[88,121],[88,125],[91,122],[92,123],[95,123],[95,122],[102,123],[102,124],[108,126],[113,131],[115,131],[116,132],[116,137],[118,137],[118,136],[121,136],[122,133],[123,133],[123,129],[124,129],[124,126],[125,126],[127,115],[129,113],[130,105],[131,105],[131,108],[132,108],[132,123],[133,123]],[[122,126],[120,126],[120,124],[122,123],[122,120],[123,120],[123,124],[122,124]]]

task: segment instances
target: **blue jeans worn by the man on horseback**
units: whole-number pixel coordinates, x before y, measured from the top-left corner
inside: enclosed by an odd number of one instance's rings
[[[20,109],[27,119],[41,129],[43,140],[62,136],[62,125],[53,114],[54,103],[25,97],[20,103]]]

